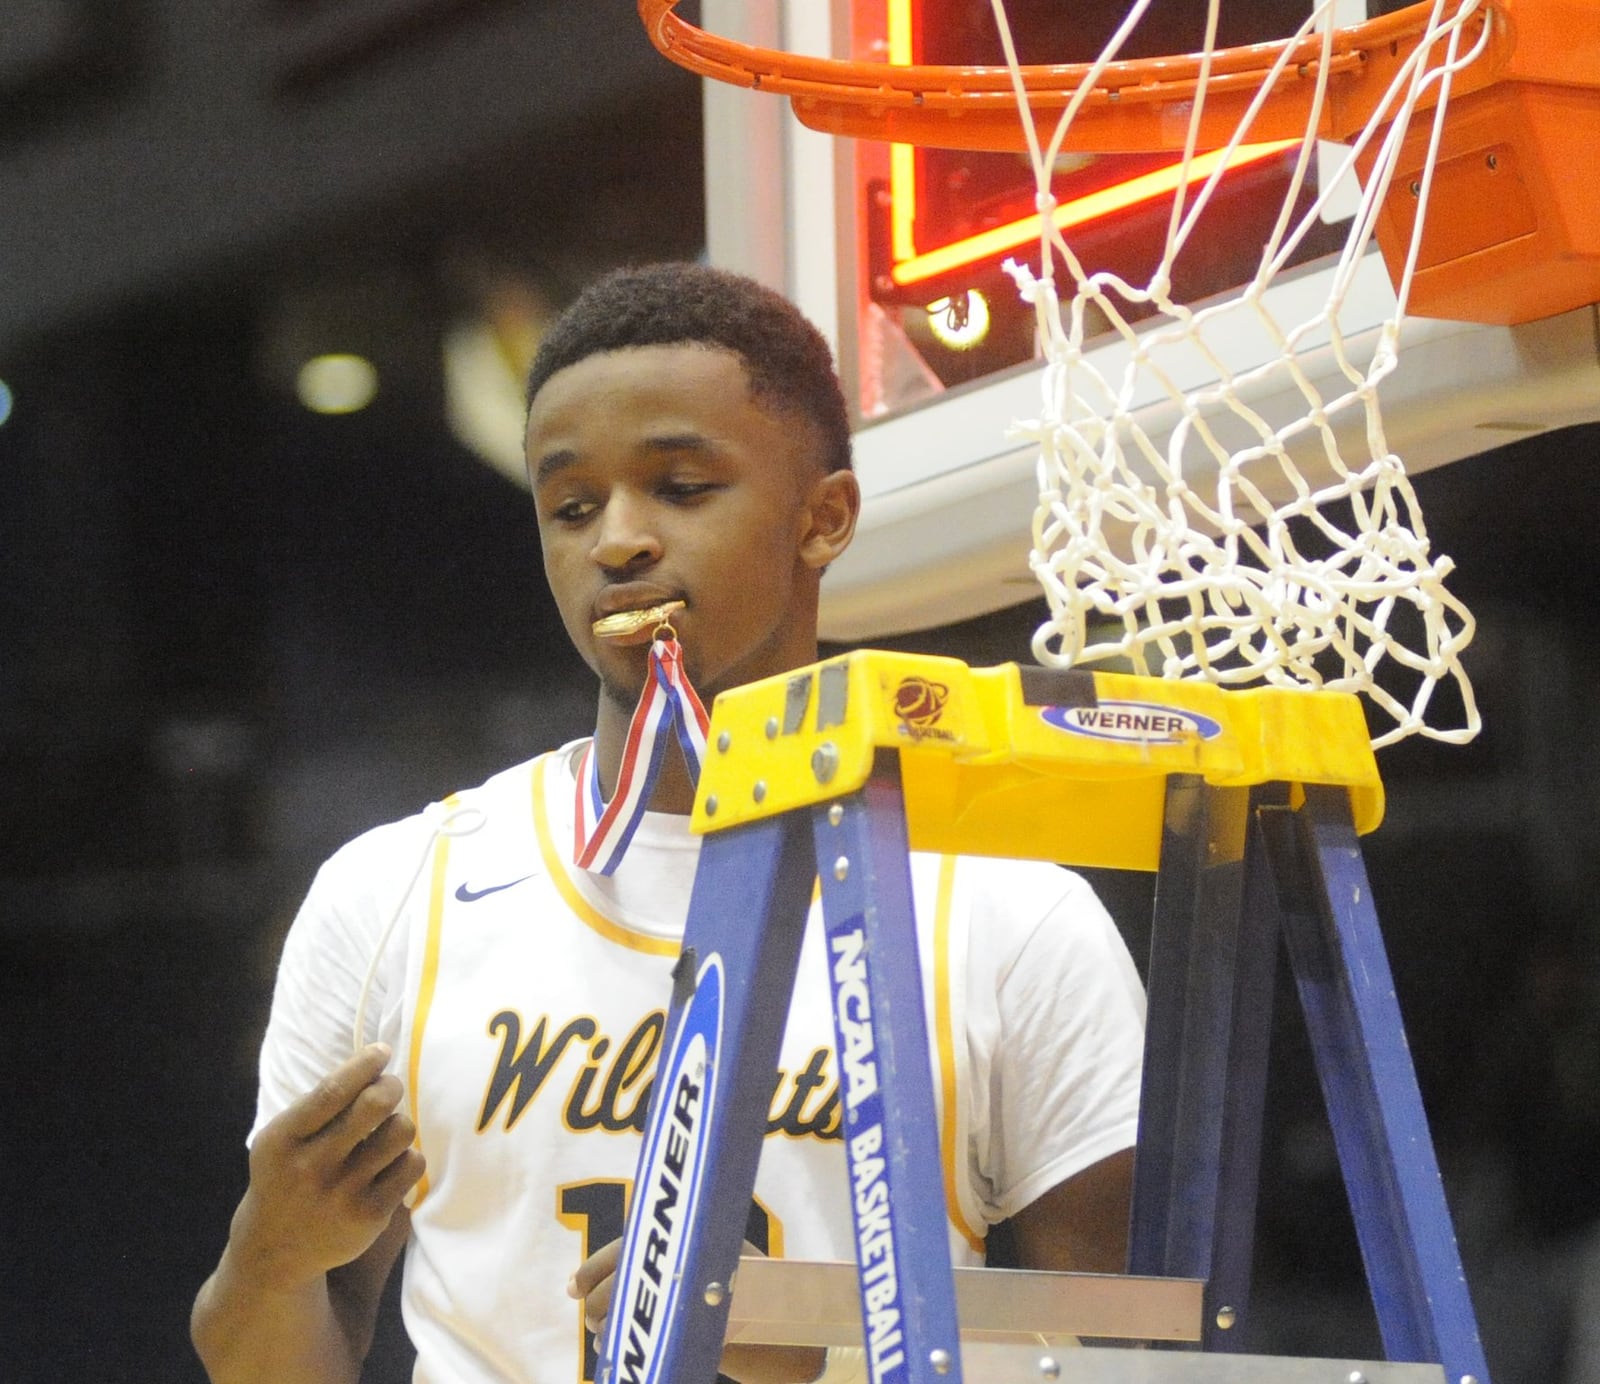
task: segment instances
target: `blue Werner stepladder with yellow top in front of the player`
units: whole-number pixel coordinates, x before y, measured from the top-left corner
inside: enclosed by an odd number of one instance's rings
[[[1203,1280],[1208,1352],[1248,1314],[1282,936],[1386,1354],[1488,1384],[1360,861],[1382,790],[1354,698],[856,653],[718,698],[710,741],[602,1384],[717,1378],[818,883],[869,1378],[962,1378],[912,848],[1157,870],[1130,1270]]]

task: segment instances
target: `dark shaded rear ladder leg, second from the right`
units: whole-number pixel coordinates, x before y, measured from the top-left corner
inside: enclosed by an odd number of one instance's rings
[[[1251,802],[1168,781],[1150,941],[1130,1270],[1206,1280],[1206,1349],[1246,1310],[1261,1165],[1277,917]]]

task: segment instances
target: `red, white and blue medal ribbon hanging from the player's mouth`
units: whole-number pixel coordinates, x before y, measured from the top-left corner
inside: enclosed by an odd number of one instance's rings
[[[584,746],[578,763],[578,802],[573,810],[576,843],[573,859],[579,869],[610,875],[627,851],[650,803],[661,771],[661,760],[674,738],[683,750],[690,781],[699,782],[706,758],[706,731],[710,717],[683,672],[683,650],[675,638],[658,638],[650,646],[650,677],[640,693],[622,746],[622,768],[616,776],[611,802],[600,789],[595,746]]]

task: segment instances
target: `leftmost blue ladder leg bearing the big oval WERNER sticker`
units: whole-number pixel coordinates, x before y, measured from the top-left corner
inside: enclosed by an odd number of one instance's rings
[[[602,1384],[717,1378],[814,872],[803,811],[701,850]]]

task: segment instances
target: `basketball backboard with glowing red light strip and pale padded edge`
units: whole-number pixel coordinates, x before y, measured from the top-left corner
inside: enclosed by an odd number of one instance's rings
[[[1029,16],[1061,6],[1010,6],[1029,61],[1072,61],[1077,42]],[[1104,10],[1104,14],[1099,13]],[[1274,10],[1224,3],[1238,32],[1229,42],[1277,37]],[[992,62],[986,0],[704,0],[707,30],[818,56]],[[1083,43],[1098,46],[1118,5],[1074,8]],[[1096,18],[1098,16],[1098,18]],[[1363,18],[1357,11],[1354,19]],[[1098,26],[1098,27],[1096,27]],[[1254,29],[1251,26],[1256,26]],[[1157,34],[1171,51],[1181,30]],[[1032,184],[1011,155],[912,150],[818,134],[779,98],[706,86],[707,240],[714,264],[738,269],[794,298],[830,336],[856,414],[856,464],[866,510],[856,544],[824,584],[822,634],[858,640],[944,624],[1029,600],[1029,525],[1037,498],[1034,451],[1008,426],[1038,411],[1029,314],[998,270],[1027,256]],[[1194,299],[1243,282],[1261,206],[1282,192],[1283,150],[1240,150],[1219,200],[1226,234],[1210,234],[1186,272]],[[1064,160],[1058,197],[1077,208],[1072,234],[1085,253],[1136,262],[1171,195],[1171,160],[1152,155]],[[1338,205],[1326,208],[1331,246]],[[1312,240],[1301,262],[1269,290],[1280,315],[1298,315],[1326,291],[1331,262]],[[952,309],[950,304],[955,304]],[[1352,358],[1376,349],[1394,309],[1381,258],[1371,254],[1346,299]],[[976,334],[987,312],[987,334]],[[1107,338],[1104,350],[1125,350]],[[1227,365],[1248,371],[1275,347],[1240,333]],[[1331,352],[1306,357],[1312,376],[1336,371]],[[1360,362],[1358,362],[1360,363]],[[1272,398],[1251,400],[1262,411]],[[1400,368],[1384,382],[1389,440],[1413,474],[1499,446],[1520,435],[1600,418],[1595,309],[1522,326],[1413,317]],[[1150,398],[1141,424],[1152,438],[1176,422]]]

